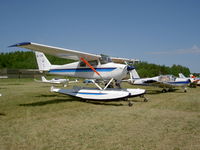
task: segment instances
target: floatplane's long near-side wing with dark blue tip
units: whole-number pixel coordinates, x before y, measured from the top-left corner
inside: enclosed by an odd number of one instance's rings
[[[80,58],[84,58],[87,61],[90,61],[90,60],[97,60],[101,57],[100,55],[80,52],[76,50],[64,49],[64,48],[59,48],[59,47],[53,47],[53,46],[48,46],[48,45],[42,45],[42,44],[32,43],[32,42],[18,43],[18,44],[11,45],[9,47],[27,48],[30,50],[54,55],[60,58],[73,59],[73,60],[80,60]]]

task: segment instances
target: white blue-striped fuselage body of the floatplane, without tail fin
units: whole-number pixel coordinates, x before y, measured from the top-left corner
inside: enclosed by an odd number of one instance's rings
[[[96,74],[91,68],[81,66],[81,61],[59,66],[52,65],[49,73],[90,79],[101,79],[102,77],[105,80],[111,78],[122,80],[127,74],[127,66],[124,64],[110,62],[106,64],[93,65],[93,67],[101,76]]]

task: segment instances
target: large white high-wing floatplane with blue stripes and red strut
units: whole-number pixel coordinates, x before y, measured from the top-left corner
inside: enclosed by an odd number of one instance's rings
[[[123,89],[120,83],[127,73],[133,70],[133,67],[114,63],[113,61],[134,61],[124,58],[110,58],[106,55],[95,55],[76,50],[52,47],[32,42],[23,42],[10,47],[22,47],[37,51],[36,58],[39,70],[48,71],[50,74],[59,74],[72,77],[81,77],[89,79],[102,79],[105,87],[101,87],[95,81],[93,83],[97,88],[74,88],[74,89],[57,89],[51,91],[66,95],[71,95],[88,100],[116,100],[127,99],[134,96],[145,94],[144,89]],[[43,53],[54,55],[60,58],[73,59],[77,62],[65,65],[52,65]],[[112,61],[113,60],[113,61]],[[111,82],[115,81],[118,88],[108,88]],[[147,101],[145,98],[144,101]],[[131,102],[129,101],[131,106]]]

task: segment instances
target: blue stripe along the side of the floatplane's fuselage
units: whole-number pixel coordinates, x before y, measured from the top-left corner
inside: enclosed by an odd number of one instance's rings
[[[110,72],[113,71],[116,68],[95,68],[96,71],[98,72]],[[54,72],[93,72],[92,69],[90,68],[70,68],[70,69],[52,69],[49,70],[50,73],[54,73]]]

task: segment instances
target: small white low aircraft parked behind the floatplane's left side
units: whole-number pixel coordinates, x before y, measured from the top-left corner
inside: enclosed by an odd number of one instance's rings
[[[67,87],[67,84],[69,83],[77,83],[78,80],[70,81],[69,79],[58,79],[53,78],[51,80],[47,80],[44,76],[41,76],[41,80],[36,80],[36,82],[42,82],[42,83],[51,83],[51,84],[62,84],[64,87]]]

